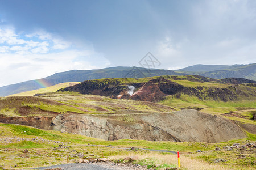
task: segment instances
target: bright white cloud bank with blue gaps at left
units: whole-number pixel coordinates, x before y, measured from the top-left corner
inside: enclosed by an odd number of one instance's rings
[[[93,48],[74,48],[70,42],[51,33],[39,31],[25,36],[16,34],[14,29],[0,27],[0,86],[61,71],[99,69],[109,64]]]

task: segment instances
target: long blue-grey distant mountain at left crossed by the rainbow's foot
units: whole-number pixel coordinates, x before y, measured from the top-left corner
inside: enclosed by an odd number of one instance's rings
[[[146,76],[159,75],[186,75],[185,73],[176,73],[172,70],[162,69],[144,69],[139,67],[110,67],[98,70],[71,70],[62,73],[56,73],[46,78],[30,80],[27,82],[11,84],[0,87],[0,96],[8,96],[20,92],[36,90],[43,87],[53,86],[65,82],[82,82],[84,80],[101,78],[143,78]],[[43,84],[43,86],[42,86]]]

